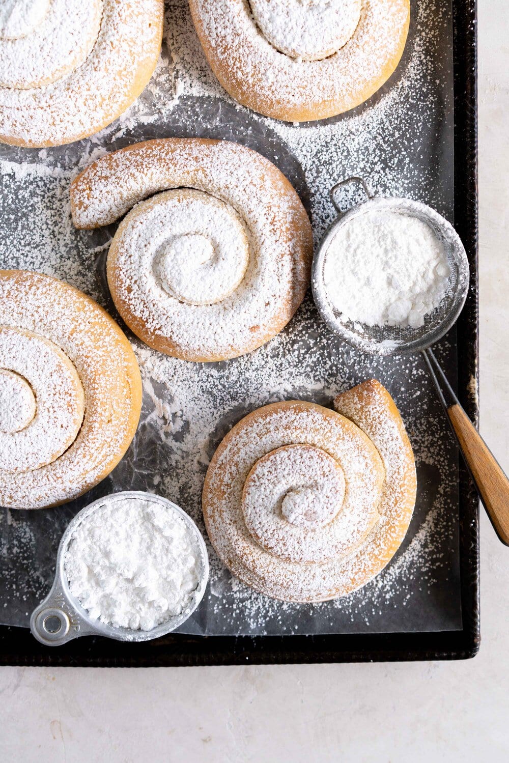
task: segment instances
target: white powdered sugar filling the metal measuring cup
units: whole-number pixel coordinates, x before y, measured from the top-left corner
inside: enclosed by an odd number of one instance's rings
[[[71,594],[92,618],[151,630],[181,614],[200,581],[195,534],[169,507],[124,497],[87,514],[64,559]]]

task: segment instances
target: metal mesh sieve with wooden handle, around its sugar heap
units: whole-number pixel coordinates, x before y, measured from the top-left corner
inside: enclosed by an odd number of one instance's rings
[[[343,212],[337,203],[337,191],[352,182],[362,186],[367,200]],[[321,317],[334,333],[363,353],[379,356],[422,353],[482,504],[488,512],[498,537],[508,546],[509,480],[463,410],[437,358],[430,349],[430,346],[440,340],[456,323],[469,291],[469,261],[462,241],[453,226],[426,204],[407,198],[375,197],[366,181],[359,177],[347,178],[334,185],[330,190],[330,198],[340,217],[333,221],[324,234],[314,254],[311,269],[313,297]],[[373,327],[343,319],[330,301],[324,285],[327,251],[340,227],[349,224],[353,217],[358,215],[384,210],[419,218],[433,230],[446,250],[451,271],[446,295],[439,307],[425,316],[424,326],[419,328]]]

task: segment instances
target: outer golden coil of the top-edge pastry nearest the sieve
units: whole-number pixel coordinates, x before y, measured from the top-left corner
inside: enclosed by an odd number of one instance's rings
[[[379,11],[377,4],[384,6],[382,29],[372,13],[373,5]],[[325,60],[298,62],[265,40],[247,0],[189,0],[189,6],[224,89],[259,114],[291,122],[333,117],[370,98],[395,72],[410,24],[410,0],[364,0],[359,26],[343,48]]]

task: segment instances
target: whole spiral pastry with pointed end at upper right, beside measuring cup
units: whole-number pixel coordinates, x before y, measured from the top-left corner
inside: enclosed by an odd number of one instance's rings
[[[267,405],[224,437],[203,513],[214,549],[256,591],[287,601],[349,594],[379,573],[414,510],[414,457],[388,391],[375,380],[334,410]]]

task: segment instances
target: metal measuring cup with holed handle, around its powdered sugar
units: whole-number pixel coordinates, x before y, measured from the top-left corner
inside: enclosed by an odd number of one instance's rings
[[[160,623],[160,625],[151,630],[116,628],[90,617],[89,613],[79,603],[79,600],[72,596],[64,569],[66,551],[72,541],[72,535],[79,524],[96,508],[123,500],[124,498],[143,498],[143,501],[153,501],[153,503],[160,504],[179,517],[182,517],[182,520],[184,520],[189,530],[195,536],[196,546],[200,554],[199,582],[195,591],[192,592],[192,598],[188,607],[179,615],[171,617],[165,623]],[[150,641],[150,639],[157,639],[159,636],[166,636],[166,633],[175,630],[188,617],[191,617],[203,598],[203,594],[205,594],[207,582],[208,554],[205,541],[198,527],[185,511],[176,504],[173,504],[172,501],[152,493],[144,493],[142,491],[115,493],[104,498],[99,498],[98,501],[85,506],[66,527],[56,554],[56,571],[53,587],[46,599],[34,609],[30,618],[30,629],[37,641],[46,646],[60,646],[72,639],[79,639],[80,636],[107,636],[108,639],[116,639],[117,641]]]

